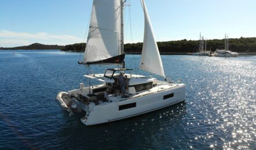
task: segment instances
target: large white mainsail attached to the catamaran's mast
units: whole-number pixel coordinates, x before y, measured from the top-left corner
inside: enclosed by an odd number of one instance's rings
[[[120,0],[94,0],[83,62],[121,54]]]

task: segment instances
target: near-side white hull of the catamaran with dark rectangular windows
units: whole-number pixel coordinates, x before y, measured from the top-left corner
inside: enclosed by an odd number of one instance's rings
[[[87,126],[97,125],[149,113],[185,101],[185,91],[185,84],[177,84],[177,87],[164,91],[94,106],[87,117],[81,118],[81,122]]]

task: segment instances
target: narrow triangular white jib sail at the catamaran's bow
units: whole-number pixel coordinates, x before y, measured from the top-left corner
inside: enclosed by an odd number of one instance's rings
[[[145,29],[144,42],[141,53],[140,69],[165,77],[162,60],[159,54],[158,45],[148,16],[148,10],[144,0],[141,0],[142,9],[144,10]]]

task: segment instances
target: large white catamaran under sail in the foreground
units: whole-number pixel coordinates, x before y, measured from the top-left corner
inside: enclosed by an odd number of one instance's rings
[[[159,81],[156,78],[130,74],[125,68],[123,51],[123,0],[94,0],[89,35],[83,61],[85,65],[119,65],[104,74],[86,74],[100,85],[58,93],[56,99],[63,110],[85,111],[85,125],[117,121],[159,110],[185,100],[185,84]],[[145,29],[140,69],[166,78],[144,0]]]

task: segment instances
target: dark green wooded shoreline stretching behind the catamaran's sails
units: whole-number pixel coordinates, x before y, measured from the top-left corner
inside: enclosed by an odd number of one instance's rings
[[[85,43],[67,45],[62,51],[81,52],[85,48]],[[198,50],[198,40],[177,40],[169,42],[158,42],[158,48],[161,53],[168,52],[195,52]],[[207,40],[207,50],[215,51],[217,48],[224,48],[224,39]],[[240,37],[239,39],[229,39],[229,49],[236,52],[256,52],[256,37]],[[142,43],[125,44],[126,53],[140,53]]]

